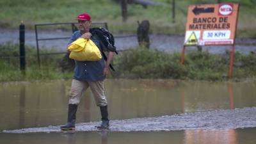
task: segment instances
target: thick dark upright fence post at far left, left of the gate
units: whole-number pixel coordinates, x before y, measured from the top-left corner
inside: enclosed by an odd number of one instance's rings
[[[25,52],[25,25],[20,22],[20,70],[25,74],[26,68]]]

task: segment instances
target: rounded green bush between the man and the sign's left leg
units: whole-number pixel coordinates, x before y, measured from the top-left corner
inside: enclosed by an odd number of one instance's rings
[[[179,54],[166,54],[140,47],[122,52],[115,61],[118,77],[128,78],[179,78]]]

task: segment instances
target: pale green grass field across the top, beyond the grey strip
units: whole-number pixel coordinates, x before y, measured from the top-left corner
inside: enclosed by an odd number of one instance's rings
[[[186,9],[189,4],[216,3],[216,1],[176,1],[175,23],[172,23],[172,0],[152,0],[160,3],[156,6],[143,8],[138,4],[129,4],[128,20],[122,22],[120,5],[111,0],[1,0],[1,28],[17,29],[20,21],[26,28],[33,29],[36,23],[75,22],[78,13],[88,12],[93,22],[108,22],[109,30],[113,33],[135,33],[137,21],[149,20],[151,33],[184,34],[186,25]],[[256,37],[256,15],[253,0],[233,0],[239,2],[238,37]]]

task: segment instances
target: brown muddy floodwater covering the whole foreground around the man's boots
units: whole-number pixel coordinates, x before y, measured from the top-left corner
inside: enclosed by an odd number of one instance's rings
[[[253,138],[256,129],[230,128],[225,124],[216,127],[198,127],[207,125],[205,120],[226,116],[225,113],[237,115],[239,124],[255,124],[256,82],[241,83],[209,83],[204,81],[173,81],[173,80],[106,80],[109,113],[115,120],[113,129],[122,127],[122,122],[145,122],[154,120],[198,120],[193,124],[183,125],[170,131],[130,132],[82,131],[75,134],[60,132],[31,132],[26,134],[0,133],[0,143],[255,143]],[[38,81],[0,84],[0,131],[24,129],[29,127],[45,127],[61,125],[67,119],[67,101],[70,81]],[[221,109],[225,109],[224,111]],[[230,109],[230,110],[228,110]],[[234,110],[232,110],[234,109]],[[248,115],[239,114],[248,113]],[[196,113],[195,113],[196,112]],[[237,114],[238,113],[238,114]],[[250,115],[249,115],[250,114]],[[164,115],[172,115],[170,117]],[[212,116],[213,115],[213,116]],[[233,115],[233,114],[232,114]],[[157,118],[157,116],[160,116]],[[207,116],[207,118],[202,118]],[[212,116],[212,117],[211,117]],[[247,116],[247,117],[246,117]],[[90,90],[85,93],[77,111],[77,123],[99,121],[99,109],[95,106]],[[146,118],[132,119],[132,118]],[[164,119],[165,118],[165,119]],[[173,118],[173,119],[172,119]],[[194,119],[193,119],[194,118]],[[196,119],[197,118],[197,119]],[[217,117],[218,120],[219,117]],[[239,120],[238,120],[239,118]],[[128,119],[127,121],[120,121]],[[131,120],[129,120],[131,119]],[[232,117],[227,115],[228,123]],[[230,120],[229,120],[230,119]],[[133,120],[133,121],[132,121]],[[149,121],[149,122],[148,122]],[[186,124],[186,120],[184,121]],[[190,122],[191,123],[191,122]],[[220,122],[221,123],[221,122]],[[90,124],[90,123],[86,123]],[[114,123],[115,124],[115,123]],[[153,123],[151,123],[153,124]],[[169,122],[170,124],[170,122]],[[179,124],[179,123],[177,123]],[[183,123],[182,123],[183,124]],[[198,125],[196,125],[198,124]],[[142,124],[143,125],[143,124]],[[150,125],[150,124],[149,124]],[[155,125],[156,128],[157,125]],[[162,125],[160,125],[162,126]],[[172,126],[172,125],[171,125]],[[179,125],[176,125],[179,128]],[[223,127],[222,127],[223,126]],[[243,126],[243,125],[242,125]],[[169,125],[170,127],[170,125]],[[248,127],[255,127],[249,125]],[[79,127],[78,127],[79,128]],[[81,129],[83,129],[83,125]],[[140,127],[139,127],[140,128]],[[150,128],[150,127],[148,127]],[[161,127],[160,127],[161,128]],[[243,127],[244,128],[244,127]],[[125,127],[124,127],[125,130]],[[147,132],[146,132],[147,131]],[[40,141],[38,141],[40,140]]]

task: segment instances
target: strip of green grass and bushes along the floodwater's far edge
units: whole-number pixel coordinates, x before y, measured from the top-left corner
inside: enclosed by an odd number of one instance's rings
[[[60,61],[64,55],[41,56],[42,67],[38,67],[36,49],[26,47],[26,75],[19,68],[18,45],[0,45],[0,81],[27,81],[42,79],[70,79],[72,68],[62,70]],[[52,50],[47,50],[52,52]],[[17,56],[17,57],[13,57]],[[209,54],[208,52],[189,52],[184,65],[180,65],[180,53],[167,54],[153,49],[138,47],[120,52],[113,65],[116,72],[109,78],[129,79],[192,79],[223,81],[228,79],[230,54]],[[256,54],[235,54],[234,80],[256,78]]]

